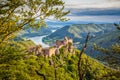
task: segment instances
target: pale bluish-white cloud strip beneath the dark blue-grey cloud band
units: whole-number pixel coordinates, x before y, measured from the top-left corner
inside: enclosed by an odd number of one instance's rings
[[[120,16],[67,16],[71,21],[83,22],[119,22]]]

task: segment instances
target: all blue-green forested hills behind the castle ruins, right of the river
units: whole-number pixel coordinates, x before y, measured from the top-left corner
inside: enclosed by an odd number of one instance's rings
[[[109,48],[112,44],[120,43],[118,40],[120,31],[116,29],[114,24],[92,23],[67,25],[47,36],[43,41],[51,44],[56,39],[62,39],[64,36],[68,36],[73,39],[74,46],[81,49],[88,32],[90,32],[91,37],[85,53],[93,58],[96,58],[98,55],[102,55],[101,52],[94,50],[94,43],[104,48]]]

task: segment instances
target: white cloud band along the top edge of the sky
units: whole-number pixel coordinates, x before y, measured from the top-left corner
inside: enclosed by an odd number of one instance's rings
[[[120,8],[120,0],[63,0],[66,8]]]

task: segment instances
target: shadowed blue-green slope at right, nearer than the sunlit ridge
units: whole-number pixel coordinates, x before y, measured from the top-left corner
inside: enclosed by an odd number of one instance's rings
[[[96,43],[100,47],[110,48],[110,46],[113,44],[116,43],[120,44],[120,40],[118,38],[119,35],[120,31],[115,30],[90,39],[86,53],[94,58],[97,57],[98,55],[101,55],[102,54],[101,52],[94,50],[93,44]]]

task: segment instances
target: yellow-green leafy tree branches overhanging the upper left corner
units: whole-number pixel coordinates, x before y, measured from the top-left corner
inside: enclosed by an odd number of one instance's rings
[[[0,44],[28,28],[45,26],[45,19],[65,21],[62,0],[0,0]]]

